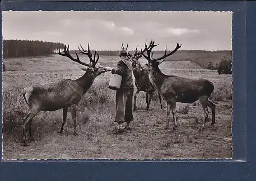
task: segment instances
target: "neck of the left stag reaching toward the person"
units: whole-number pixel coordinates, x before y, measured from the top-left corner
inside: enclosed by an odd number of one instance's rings
[[[94,73],[86,71],[82,77],[78,78],[77,84],[83,89],[83,94],[87,92],[87,90],[91,87],[92,83],[94,83],[94,79],[97,76]]]

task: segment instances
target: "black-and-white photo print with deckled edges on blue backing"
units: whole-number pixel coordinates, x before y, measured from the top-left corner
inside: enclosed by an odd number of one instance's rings
[[[231,11],[3,11],[2,159],[232,159]]]

